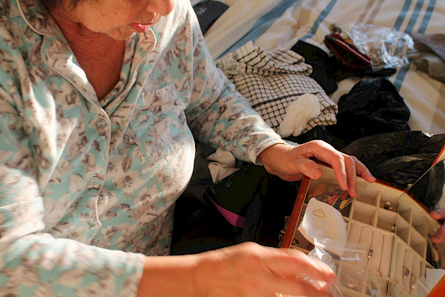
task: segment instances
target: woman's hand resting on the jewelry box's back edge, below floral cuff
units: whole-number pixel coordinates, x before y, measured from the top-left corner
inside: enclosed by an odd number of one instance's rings
[[[376,180],[355,156],[339,152],[320,140],[301,145],[272,145],[258,155],[258,161],[270,174],[275,174],[283,180],[301,180],[303,174],[309,178],[321,178],[320,165],[310,160],[312,157],[331,165],[338,184],[343,190],[348,190],[352,197],[357,196],[357,174],[367,182]]]

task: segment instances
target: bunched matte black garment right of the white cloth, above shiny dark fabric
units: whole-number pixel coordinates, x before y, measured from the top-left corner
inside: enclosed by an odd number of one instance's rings
[[[409,131],[409,116],[408,106],[389,80],[361,81],[340,97],[335,125],[316,127],[288,140],[305,143],[320,139],[341,150],[361,137]]]

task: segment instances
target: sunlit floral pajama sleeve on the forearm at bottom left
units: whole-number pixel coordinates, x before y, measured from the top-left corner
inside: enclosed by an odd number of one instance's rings
[[[143,259],[44,233],[10,243],[1,258],[3,294],[48,297],[136,296]]]

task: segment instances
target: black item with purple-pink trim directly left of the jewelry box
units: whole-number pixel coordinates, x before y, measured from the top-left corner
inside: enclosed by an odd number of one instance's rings
[[[255,241],[278,246],[279,231],[292,212],[299,182],[286,182],[263,166],[245,165],[205,188],[205,198],[235,228],[237,243]]]

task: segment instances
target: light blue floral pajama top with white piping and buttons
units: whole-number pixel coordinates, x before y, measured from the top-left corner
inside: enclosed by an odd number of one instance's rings
[[[101,102],[37,0],[0,11],[0,296],[136,296],[143,255],[169,252],[193,137],[251,162],[283,141],[215,67],[188,0],[127,40]]]

